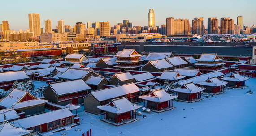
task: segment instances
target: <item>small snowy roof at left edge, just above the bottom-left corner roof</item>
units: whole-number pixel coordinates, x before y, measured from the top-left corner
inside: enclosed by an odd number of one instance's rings
[[[17,112],[13,108],[0,110],[0,122],[4,121],[4,115],[6,120],[13,120],[13,119],[20,118],[20,116],[17,115]]]

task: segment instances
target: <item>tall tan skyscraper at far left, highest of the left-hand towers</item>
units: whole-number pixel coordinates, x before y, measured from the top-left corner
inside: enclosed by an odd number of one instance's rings
[[[33,32],[33,36],[41,35],[41,26],[40,26],[40,15],[39,14],[28,14],[29,21],[29,30]]]

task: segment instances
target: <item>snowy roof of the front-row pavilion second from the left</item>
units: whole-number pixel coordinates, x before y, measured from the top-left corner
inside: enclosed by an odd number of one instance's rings
[[[148,95],[139,96],[139,98],[152,102],[165,102],[177,98],[176,95],[171,95],[165,89],[154,90]]]

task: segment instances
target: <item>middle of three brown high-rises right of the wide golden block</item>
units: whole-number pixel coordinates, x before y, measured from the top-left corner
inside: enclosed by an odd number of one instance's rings
[[[208,18],[207,23],[208,34],[218,34],[219,20],[216,17]]]

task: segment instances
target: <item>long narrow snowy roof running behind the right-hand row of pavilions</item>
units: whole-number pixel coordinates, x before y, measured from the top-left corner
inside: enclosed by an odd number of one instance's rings
[[[209,78],[219,77],[219,76],[223,76],[223,75],[224,74],[222,72],[215,71],[215,72],[210,72],[210,73],[203,74],[200,76],[195,76],[190,79],[183,80],[183,81],[178,81],[177,83],[174,83],[174,84],[184,85],[184,84],[191,83],[191,82],[193,82],[194,84],[197,84],[198,82],[206,81]]]

